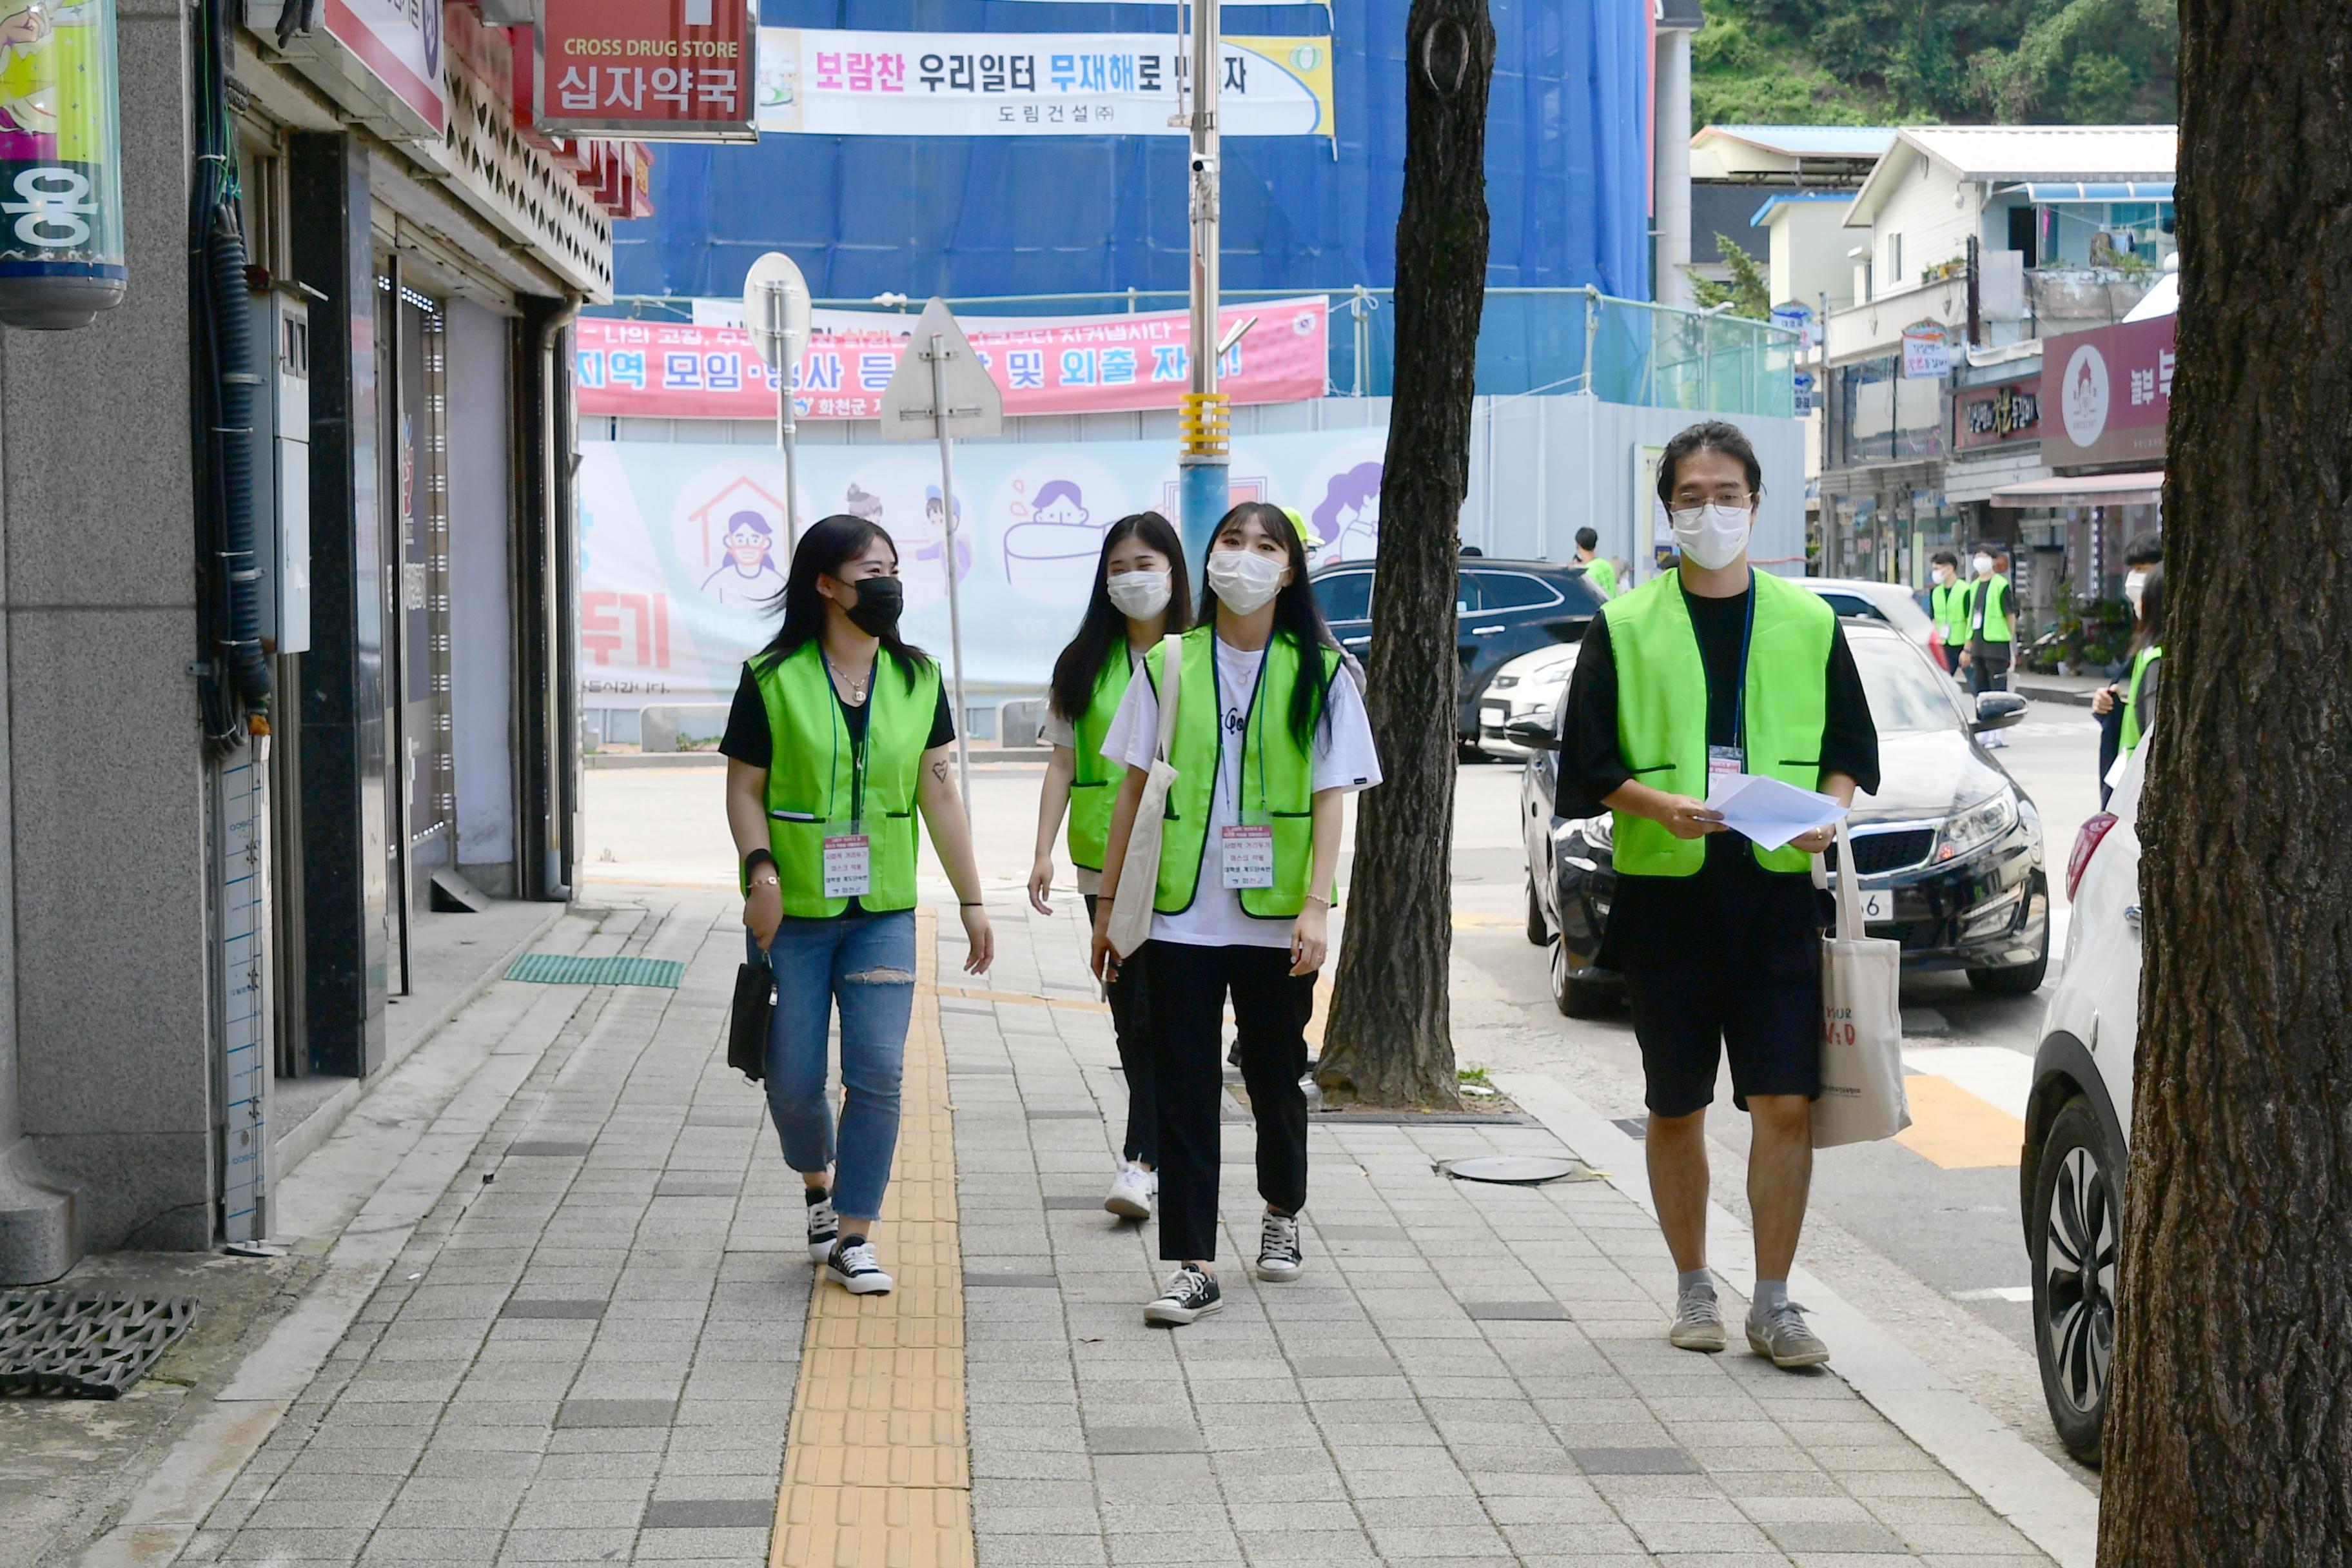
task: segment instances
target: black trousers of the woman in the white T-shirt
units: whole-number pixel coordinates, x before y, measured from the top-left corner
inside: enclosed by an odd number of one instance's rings
[[[1225,1100],[1225,992],[1240,1025],[1242,1084],[1258,1119],[1258,1197],[1308,1201],[1308,1018],[1315,976],[1282,947],[1145,943],[1152,966],[1152,1070],[1160,1091],[1160,1255],[1216,1260],[1218,1121]]]

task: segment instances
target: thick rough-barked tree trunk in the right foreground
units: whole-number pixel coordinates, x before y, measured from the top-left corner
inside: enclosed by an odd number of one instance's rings
[[[2164,712],[2098,1561],[2352,1563],[2352,7],[2180,2]]]

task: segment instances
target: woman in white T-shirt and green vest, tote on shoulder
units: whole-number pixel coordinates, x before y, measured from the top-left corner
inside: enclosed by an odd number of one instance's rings
[[[1308,588],[1308,555],[1279,508],[1225,512],[1202,564],[1200,621],[1183,639],[1176,785],[1162,820],[1152,933],[1152,1091],[1160,1095],[1160,1255],[1178,1265],[1143,1307],[1190,1324],[1223,1307],[1216,1284],[1218,1112],[1225,997],[1258,1126],[1254,1272],[1296,1279],[1308,1201],[1308,1018],[1329,950],[1345,797],[1381,783],[1371,722]],[[1136,802],[1160,741],[1162,649],[1127,684],[1103,755],[1127,766],[1103,849],[1094,971],[1117,961],[1105,929]],[[1138,867],[1141,872],[1141,867]]]

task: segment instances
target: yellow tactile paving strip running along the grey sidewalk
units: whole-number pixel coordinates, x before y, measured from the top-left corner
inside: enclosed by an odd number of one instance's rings
[[[769,1568],[974,1568],[964,1255],[929,912],[915,947],[898,1159],[875,1232],[896,1288],[849,1295],[818,1272]]]

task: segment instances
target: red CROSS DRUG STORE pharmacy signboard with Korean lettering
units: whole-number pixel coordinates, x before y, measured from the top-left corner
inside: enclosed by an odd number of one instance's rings
[[[546,0],[536,110],[550,134],[757,141],[760,21],[746,0]]]

